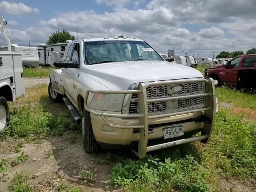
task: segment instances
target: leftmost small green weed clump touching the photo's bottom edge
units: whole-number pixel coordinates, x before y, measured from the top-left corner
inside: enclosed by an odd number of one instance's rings
[[[28,183],[28,175],[16,173],[11,181],[10,192],[32,192],[32,188]]]

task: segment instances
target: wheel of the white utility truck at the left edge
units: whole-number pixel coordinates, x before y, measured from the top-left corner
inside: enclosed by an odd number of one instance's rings
[[[6,99],[0,96],[0,132],[7,127],[7,118],[10,116],[9,107]]]

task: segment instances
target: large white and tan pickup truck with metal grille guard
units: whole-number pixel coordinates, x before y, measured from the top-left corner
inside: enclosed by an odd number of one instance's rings
[[[144,158],[210,140],[218,110],[214,80],[172,62],[174,52],[164,60],[138,38],[87,38],[70,42],[63,59],[54,63],[61,69],[52,70],[49,96],[64,97],[82,120],[86,152],[130,148]]]

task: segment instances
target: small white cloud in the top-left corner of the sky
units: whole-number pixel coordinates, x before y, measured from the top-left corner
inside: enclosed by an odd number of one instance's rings
[[[12,15],[30,13],[32,11],[39,12],[38,8],[29,7],[23,3],[10,3],[8,1],[0,2],[0,10]]]

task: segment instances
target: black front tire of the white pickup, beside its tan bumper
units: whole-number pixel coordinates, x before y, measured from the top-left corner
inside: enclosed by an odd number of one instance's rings
[[[99,145],[94,137],[92,130],[92,122],[91,116],[88,111],[83,109],[84,118],[82,121],[82,129],[83,129],[83,146],[84,150],[87,153],[98,152]]]

